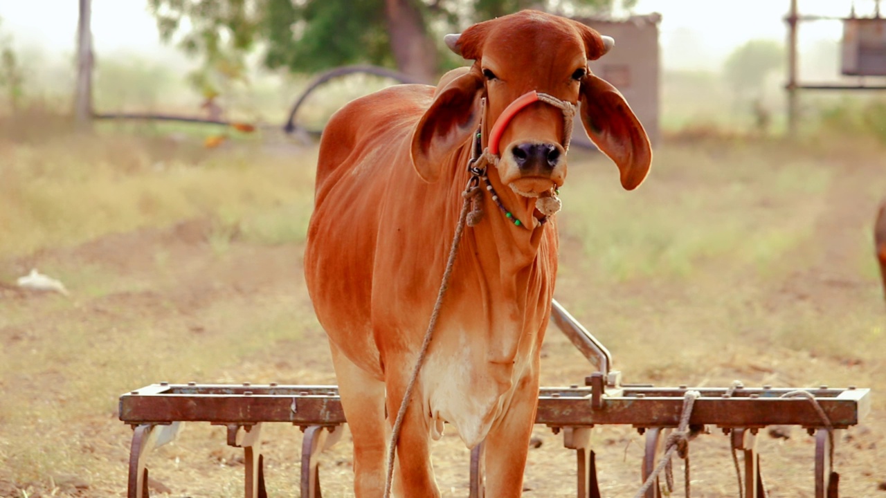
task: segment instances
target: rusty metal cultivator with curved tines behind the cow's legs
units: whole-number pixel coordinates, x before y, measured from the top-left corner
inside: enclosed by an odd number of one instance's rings
[[[612,358],[580,323],[554,301],[552,321],[597,371],[585,385],[542,387],[536,424],[563,432],[563,445],[576,452],[579,498],[599,497],[595,454],[590,433],[595,425],[627,424],[645,435],[638,496],[659,498],[657,474],[673,451],[686,445],[688,432],[722,430],[734,453],[743,456],[743,496],[761,498],[766,488],[760,475],[756,437],[769,425],[799,425],[815,436],[816,498],[836,498],[839,475],[833,471],[835,430],[859,423],[869,410],[869,390],[850,386],[832,389],[784,389],[740,384],[689,389],[621,384],[611,370]],[[688,404],[688,409],[686,405]],[[682,421],[681,421],[682,417]],[[245,451],[245,496],[267,496],[264,486],[260,431],[264,423],[298,425],[305,432],[301,458],[301,496],[319,498],[317,456],[341,435],[345,415],[334,385],[148,385],[120,397],[120,420],[134,429],[129,455],[128,498],[148,496],[147,456],[175,439],[183,422],[224,425],[228,444]],[[682,422],[682,424],[681,424]],[[682,435],[682,436],[680,436]],[[331,440],[330,440],[331,438]],[[484,496],[482,445],[470,455],[470,497]],[[738,461],[735,461],[736,467]]]

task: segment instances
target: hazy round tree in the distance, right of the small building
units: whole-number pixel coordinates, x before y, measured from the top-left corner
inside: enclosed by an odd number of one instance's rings
[[[784,66],[784,46],[773,40],[750,40],[735,49],[726,59],[723,76],[737,97],[763,91],[766,78]]]

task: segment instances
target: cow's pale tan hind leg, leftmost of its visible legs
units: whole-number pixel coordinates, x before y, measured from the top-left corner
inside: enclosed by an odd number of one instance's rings
[[[379,498],[385,492],[385,383],[351,362],[330,342],[338,392],[354,438],[354,494]]]

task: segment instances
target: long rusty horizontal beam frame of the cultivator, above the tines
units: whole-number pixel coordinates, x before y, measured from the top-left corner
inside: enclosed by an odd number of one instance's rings
[[[302,426],[346,423],[335,386],[251,386],[247,393],[236,386],[168,385],[120,398],[120,420],[128,424],[168,424],[202,421],[217,424],[287,422]],[[155,394],[141,394],[143,392]],[[188,393],[183,393],[187,391]],[[540,390],[537,424],[575,427],[594,424],[632,424],[637,427],[676,427],[680,422],[686,388],[624,387],[606,393],[600,407],[592,405],[589,387],[546,387]],[[802,425],[819,428],[822,421],[808,400],[781,398],[789,389],[700,388],[690,424],[720,427]],[[832,424],[839,429],[858,424],[870,409],[867,389],[809,389]]]

